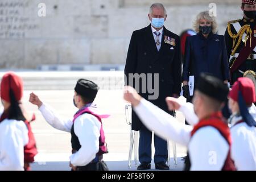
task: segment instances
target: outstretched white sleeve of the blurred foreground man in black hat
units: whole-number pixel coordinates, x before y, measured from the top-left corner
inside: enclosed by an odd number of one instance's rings
[[[192,126],[179,123],[172,115],[144,99],[134,107],[134,111],[143,124],[159,137],[188,145]]]

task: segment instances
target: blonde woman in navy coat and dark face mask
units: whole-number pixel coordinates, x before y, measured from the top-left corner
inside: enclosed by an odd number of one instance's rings
[[[186,40],[183,64],[183,96],[188,102],[193,97],[193,86],[189,85],[189,78],[194,80],[195,85],[200,73],[207,72],[225,84],[230,80],[225,39],[223,35],[216,34],[216,18],[210,16],[209,11],[203,11],[197,15],[193,27],[197,34]]]

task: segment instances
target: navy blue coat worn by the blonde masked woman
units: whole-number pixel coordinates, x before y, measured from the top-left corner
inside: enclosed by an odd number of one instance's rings
[[[183,81],[200,73],[208,72],[221,80],[230,80],[228,56],[225,39],[222,35],[209,34],[205,39],[202,34],[189,36],[185,45]]]

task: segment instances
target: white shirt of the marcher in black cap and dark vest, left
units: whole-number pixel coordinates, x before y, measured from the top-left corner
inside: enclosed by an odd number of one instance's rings
[[[101,123],[94,115],[82,114],[73,123],[72,119],[61,118],[50,106],[43,104],[39,110],[49,125],[55,129],[71,132],[74,124],[74,132],[79,138],[81,148],[69,157],[73,166],[86,166],[96,157],[99,150]]]

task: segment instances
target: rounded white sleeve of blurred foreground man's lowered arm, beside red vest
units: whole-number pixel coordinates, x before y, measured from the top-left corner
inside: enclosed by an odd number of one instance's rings
[[[212,126],[196,131],[188,146],[191,171],[220,171],[228,155],[229,145]]]

